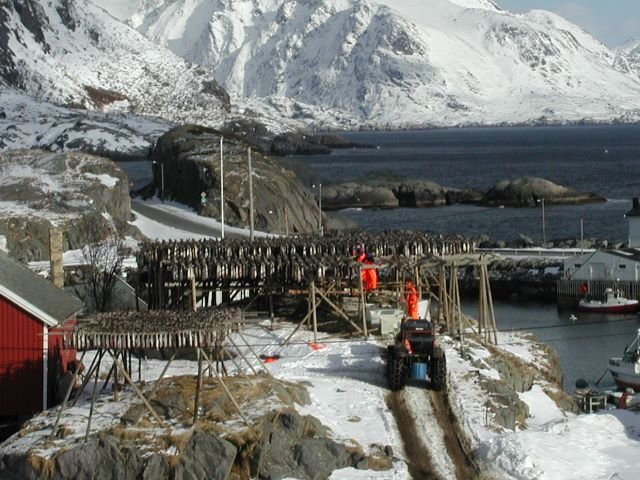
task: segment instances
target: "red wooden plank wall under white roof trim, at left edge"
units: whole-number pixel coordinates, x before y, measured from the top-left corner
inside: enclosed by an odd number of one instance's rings
[[[44,324],[0,296],[0,417],[42,410]]]

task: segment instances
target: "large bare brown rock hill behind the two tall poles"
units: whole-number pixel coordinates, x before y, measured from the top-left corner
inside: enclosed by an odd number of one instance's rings
[[[220,136],[217,130],[185,125],[160,137],[151,153],[155,193],[219,219]],[[232,226],[249,225],[247,147],[233,136],[224,137],[224,217]],[[295,173],[259,152],[253,152],[252,169],[256,229],[280,233],[318,229],[318,206]]]

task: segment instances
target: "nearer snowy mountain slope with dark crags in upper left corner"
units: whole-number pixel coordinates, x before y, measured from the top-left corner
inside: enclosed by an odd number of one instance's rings
[[[85,0],[0,2],[0,85],[58,105],[210,125],[229,109],[203,68]]]

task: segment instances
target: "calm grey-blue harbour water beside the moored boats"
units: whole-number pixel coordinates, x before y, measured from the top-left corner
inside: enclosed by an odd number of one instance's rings
[[[595,383],[605,371],[609,357],[622,355],[640,328],[637,315],[558,310],[555,305],[537,303],[496,301],[494,306],[499,330],[533,333],[556,350],[564,372],[563,387],[568,392],[573,392],[579,378]],[[477,318],[478,303],[463,302],[462,310]],[[577,317],[575,320],[572,314]],[[599,387],[614,388],[611,375],[605,375]]]

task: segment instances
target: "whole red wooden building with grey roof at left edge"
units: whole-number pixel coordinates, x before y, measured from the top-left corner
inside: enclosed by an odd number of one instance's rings
[[[73,328],[81,308],[80,300],[0,252],[0,418],[52,405],[55,379],[76,357],[61,332]]]

